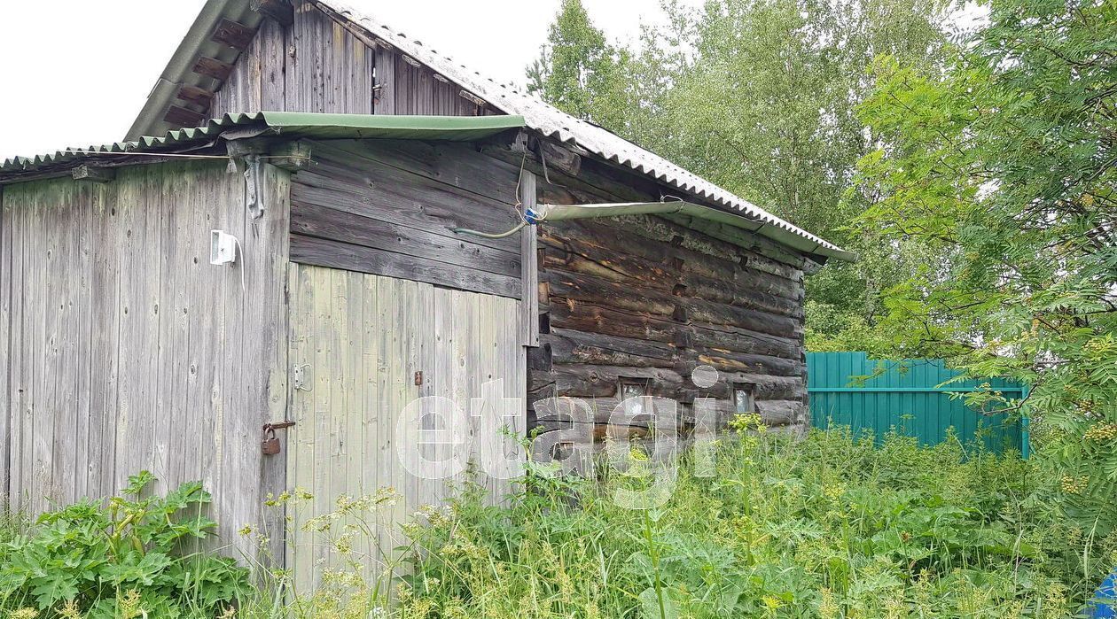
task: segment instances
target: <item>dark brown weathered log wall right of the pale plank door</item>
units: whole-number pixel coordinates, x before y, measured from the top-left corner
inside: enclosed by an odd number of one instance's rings
[[[552,165],[551,183],[540,182],[541,202],[645,202],[672,193],[569,151],[548,158],[563,165]],[[658,216],[544,223],[538,243],[543,335],[528,354],[533,424],[561,427],[548,418],[547,398],[583,398],[600,438],[623,379],[681,403],[684,435],[697,397],[718,400],[724,426],[734,385],[752,389],[768,425],[796,434],[809,426],[802,255],[747,231]],[[716,369],[719,380],[695,385],[698,366]]]

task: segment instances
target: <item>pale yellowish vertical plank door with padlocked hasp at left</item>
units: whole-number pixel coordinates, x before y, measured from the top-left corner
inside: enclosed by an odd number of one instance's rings
[[[440,396],[468,415],[471,399],[481,399],[480,415],[469,417],[466,427],[450,428],[452,435],[472,442],[475,462],[507,457],[505,476],[518,473],[521,448],[500,427],[503,416],[512,415],[510,429],[516,436],[525,432],[525,351],[515,299],[304,264],[292,265],[289,290],[290,362],[306,368],[308,384],[290,391],[297,425],[288,443],[288,485],[314,499],[294,510],[287,567],[304,588],[328,567],[330,544],[299,524],[334,511],[338,496],[379,489],[399,494],[401,501],[386,509],[378,530],[380,547],[391,551],[402,543],[399,524],[423,505],[442,504],[452,485],[465,481],[466,474],[419,478],[401,464],[397,449],[413,449],[418,437],[418,424],[398,428],[401,410],[412,400]],[[420,385],[417,373],[422,373]],[[500,378],[502,387],[486,385]],[[398,429],[407,437],[402,445]],[[478,481],[494,500],[510,487],[484,474]],[[355,551],[367,553],[363,562],[371,569],[383,568],[375,544]]]

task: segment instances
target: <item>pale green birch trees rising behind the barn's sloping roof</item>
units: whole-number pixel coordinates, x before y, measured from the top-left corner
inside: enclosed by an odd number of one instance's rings
[[[665,4],[663,28],[639,51],[610,46],[577,0],[563,2],[531,89],[771,212],[863,255],[808,282],[815,348],[862,340],[879,291],[922,260],[861,243],[844,226],[863,204],[842,201],[876,142],[856,106],[875,56],[937,61],[937,0],[713,0]],[[918,249],[918,248],[913,248]]]

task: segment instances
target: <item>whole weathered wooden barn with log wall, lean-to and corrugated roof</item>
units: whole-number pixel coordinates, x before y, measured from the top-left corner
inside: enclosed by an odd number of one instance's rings
[[[210,0],[125,139],[0,164],[15,506],[202,480],[251,554],[285,489],[439,502],[418,426],[498,496],[515,435],[591,449],[626,396],[808,425],[803,277],[850,254],[334,0]]]

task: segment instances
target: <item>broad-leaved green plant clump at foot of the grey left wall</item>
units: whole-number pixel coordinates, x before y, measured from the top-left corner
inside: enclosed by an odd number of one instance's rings
[[[107,506],[86,500],[48,512],[4,541],[0,608],[117,619],[212,617],[235,605],[249,590],[248,571],[190,550],[216,528],[203,513],[209,493],[194,482],[143,497],[152,482],[144,471]]]

